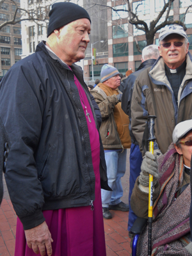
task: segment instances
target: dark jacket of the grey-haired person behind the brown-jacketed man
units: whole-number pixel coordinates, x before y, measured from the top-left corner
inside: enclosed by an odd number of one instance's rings
[[[145,70],[146,68],[151,67],[155,62],[155,59],[143,61],[143,63],[141,63],[140,67],[138,67],[136,72],[133,72],[123,81],[124,90],[122,95],[122,109],[124,110],[125,114],[129,116],[129,134],[131,136],[131,143],[135,145],[138,145],[138,141],[136,141],[136,138],[132,133],[131,129],[131,99],[133,86],[136,78],[141,74],[141,72],[143,72],[143,70]]]

